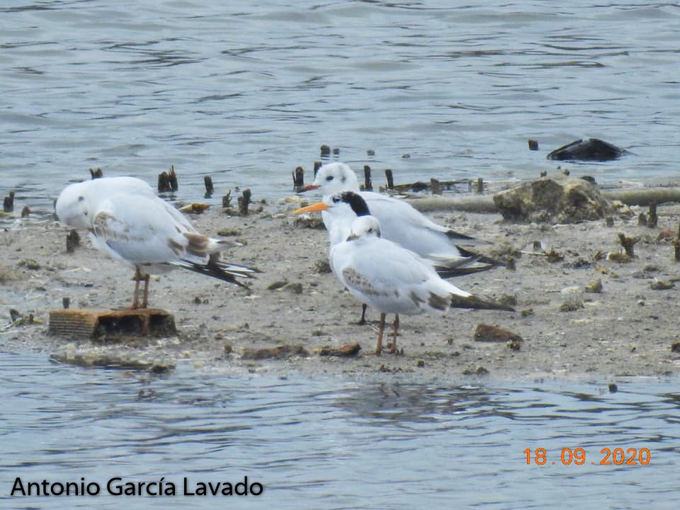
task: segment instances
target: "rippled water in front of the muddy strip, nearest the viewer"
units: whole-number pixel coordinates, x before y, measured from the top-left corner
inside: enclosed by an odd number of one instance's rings
[[[260,482],[206,508],[676,509],[680,394],[672,381],[606,385],[165,378],[0,354],[0,507],[182,508],[189,483]],[[587,462],[562,465],[562,448]],[[648,448],[648,465],[600,465],[601,448]],[[548,463],[523,450],[545,448]],[[532,457],[533,459],[533,457]],[[551,462],[555,460],[553,465]],[[591,464],[594,461],[594,464]],[[96,497],[10,498],[23,482],[97,482]],[[176,484],[113,497],[112,477]],[[234,502],[234,499],[237,501]]]

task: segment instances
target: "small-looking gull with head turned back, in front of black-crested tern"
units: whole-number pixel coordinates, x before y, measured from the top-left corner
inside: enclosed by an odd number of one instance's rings
[[[452,306],[514,311],[512,307],[482,300],[443,280],[431,261],[382,239],[380,222],[370,215],[353,220],[346,241],[331,249],[330,263],[337,278],[354,297],[380,311],[377,356],[382,352],[388,313],[395,314],[395,321],[392,346],[387,352],[397,353],[399,314],[445,314]]]

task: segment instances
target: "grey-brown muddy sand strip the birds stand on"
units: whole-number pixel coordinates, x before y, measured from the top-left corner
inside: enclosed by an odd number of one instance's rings
[[[516,271],[498,268],[453,280],[485,297],[516,300],[516,312],[450,310],[445,317],[402,317],[402,356],[373,354],[378,314],[357,323],[361,307],[324,270],[327,234],[298,225],[290,212],[297,203],[265,204],[248,217],[219,208],[191,215],[196,227],[244,242],[225,259],[260,268],[251,292],[218,280],[177,270],[152,280],[150,305],[174,314],[177,336],[131,342],[78,341],[50,336],[50,310],[72,307],[117,308],[130,305],[131,271],[106,259],[83,236],[74,254],[66,253],[69,232],[55,221],[26,220],[21,229],[3,232],[0,244],[0,350],[47,351],[70,358],[144,359],[190,363],[205,370],[273,371],[282,375],[328,373],[361,377],[390,373],[416,378],[467,377],[593,378],[625,375],[674,375],[680,370],[676,324],[679,275],[671,239],[680,207],[659,206],[659,227],[638,226],[635,215],[617,215],[577,225],[516,225],[499,215],[429,213],[441,224],[494,243],[492,254],[512,251]],[[635,211],[633,211],[635,212]],[[635,258],[596,260],[598,252],[618,252],[617,234],[638,238]],[[533,251],[534,242],[554,249],[553,260]],[[560,259],[560,256],[563,257]],[[584,288],[601,280],[601,292]],[[661,280],[669,285],[655,290]],[[565,305],[566,304],[566,305]],[[33,314],[39,324],[10,326],[10,309]],[[566,311],[566,310],[570,311]],[[493,324],[522,337],[518,349],[505,342],[475,341],[477,324]],[[319,356],[327,346],[361,345],[353,357]],[[283,359],[246,359],[246,349],[302,346]],[[677,350],[680,350],[676,347]]]

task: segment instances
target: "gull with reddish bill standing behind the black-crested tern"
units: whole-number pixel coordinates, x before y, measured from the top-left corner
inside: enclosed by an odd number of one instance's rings
[[[475,254],[465,246],[476,244],[488,244],[486,241],[460,234],[452,229],[443,227],[429,220],[412,205],[382,193],[373,191],[361,191],[354,171],[344,163],[334,162],[324,164],[317,172],[314,182],[304,186],[300,191],[319,190],[324,197],[342,191],[357,193],[368,205],[370,214],[377,217],[382,227],[382,237],[400,244],[406,249],[415,251],[420,256],[437,261],[441,266],[450,266],[459,271],[450,274],[456,276],[463,273],[463,261],[467,260],[475,268],[469,272],[482,271],[500,264],[495,259]],[[322,217],[329,234],[333,231],[334,217],[328,212],[323,212]],[[338,242],[331,236],[331,246]],[[479,263],[486,263],[480,266]]]

